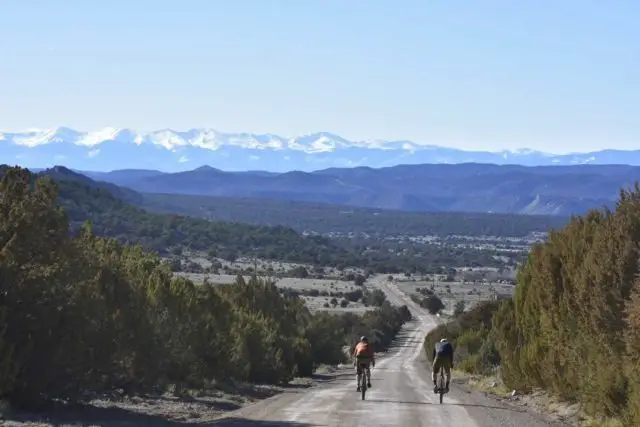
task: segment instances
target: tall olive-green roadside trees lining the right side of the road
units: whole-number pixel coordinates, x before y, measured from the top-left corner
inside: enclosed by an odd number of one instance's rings
[[[636,185],[615,210],[576,217],[534,246],[512,300],[440,326],[426,348],[446,334],[463,369],[499,361],[510,388],[544,388],[591,414],[640,425],[639,254]]]

